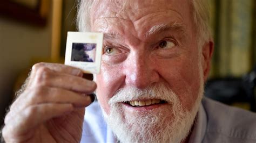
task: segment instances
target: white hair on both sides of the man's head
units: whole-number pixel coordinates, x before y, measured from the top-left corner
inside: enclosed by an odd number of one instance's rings
[[[77,27],[80,32],[91,31],[90,12],[94,0],[78,0]],[[205,42],[212,39],[210,28],[210,11],[207,0],[191,0],[194,24],[198,34],[198,46],[201,47]]]

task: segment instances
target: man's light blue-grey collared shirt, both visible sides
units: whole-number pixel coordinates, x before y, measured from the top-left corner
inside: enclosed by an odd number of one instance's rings
[[[86,108],[81,142],[117,142],[98,102]],[[256,142],[256,113],[203,98],[190,143]]]

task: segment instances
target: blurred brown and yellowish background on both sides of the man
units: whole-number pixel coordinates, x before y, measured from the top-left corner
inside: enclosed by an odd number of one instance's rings
[[[18,12],[18,15],[8,14],[6,11],[10,11],[13,6],[3,6],[2,2],[7,1],[26,5],[37,15],[31,16],[29,12],[22,13],[23,9]],[[0,125],[3,123],[5,109],[8,108],[15,91],[19,89],[34,63],[41,61],[63,63],[66,32],[76,31],[75,1],[1,1]],[[231,77],[240,83],[240,79],[250,73],[256,65],[256,1],[208,1],[215,39],[210,80]],[[44,2],[44,6],[41,2]],[[39,7],[38,3],[41,3]],[[255,97],[255,91],[253,96]],[[255,100],[255,98],[252,99]],[[250,110],[250,108],[247,109]]]

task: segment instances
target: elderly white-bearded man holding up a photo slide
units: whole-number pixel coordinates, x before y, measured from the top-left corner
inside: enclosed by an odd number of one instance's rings
[[[5,117],[5,141],[256,142],[254,113],[203,98],[208,20],[205,0],[80,1],[79,30],[104,33],[96,83],[36,64]]]

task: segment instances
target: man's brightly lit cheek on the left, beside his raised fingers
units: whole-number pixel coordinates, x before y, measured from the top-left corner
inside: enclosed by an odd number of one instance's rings
[[[120,71],[122,71],[120,68],[111,67],[102,63],[100,74],[96,77],[97,98],[103,110],[107,114],[110,112],[110,106],[107,102],[123,83],[123,75]]]

